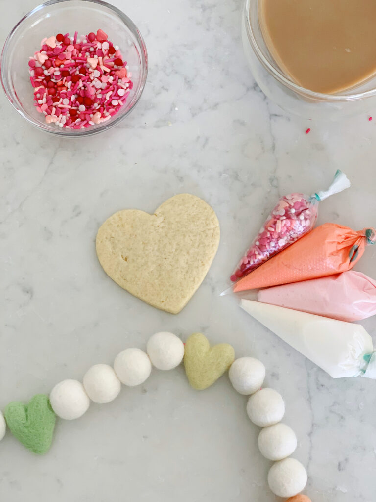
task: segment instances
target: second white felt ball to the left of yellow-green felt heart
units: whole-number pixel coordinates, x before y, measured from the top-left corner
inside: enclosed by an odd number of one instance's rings
[[[149,378],[151,362],[147,354],[139,348],[126,348],[117,354],[114,370],[121,383],[133,387]]]

